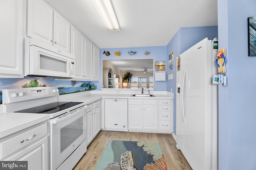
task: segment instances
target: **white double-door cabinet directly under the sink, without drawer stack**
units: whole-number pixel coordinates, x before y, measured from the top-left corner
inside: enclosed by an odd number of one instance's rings
[[[129,131],[157,132],[158,131],[157,100],[129,99],[128,100],[128,129]]]

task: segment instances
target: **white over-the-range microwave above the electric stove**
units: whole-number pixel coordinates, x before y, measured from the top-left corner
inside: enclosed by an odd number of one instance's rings
[[[24,76],[74,78],[75,56],[38,39],[24,38]]]

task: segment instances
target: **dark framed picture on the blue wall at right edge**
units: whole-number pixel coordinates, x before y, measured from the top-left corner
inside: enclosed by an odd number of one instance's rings
[[[248,55],[256,56],[256,17],[248,18]]]

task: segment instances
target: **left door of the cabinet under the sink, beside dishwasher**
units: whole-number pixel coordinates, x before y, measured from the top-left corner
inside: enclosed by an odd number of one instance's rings
[[[128,129],[143,129],[142,106],[128,106]]]

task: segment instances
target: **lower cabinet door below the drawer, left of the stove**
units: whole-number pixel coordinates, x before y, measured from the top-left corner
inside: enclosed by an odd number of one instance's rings
[[[49,146],[48,136],[30,145],[26,149],[5,159],[6,161],[28,161],[28,170],[48,170],[49,169]]]

